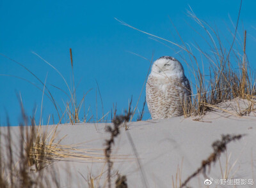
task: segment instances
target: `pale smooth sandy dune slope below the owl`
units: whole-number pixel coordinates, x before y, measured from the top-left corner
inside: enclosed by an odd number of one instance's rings
[[[193,120],[194,119],[194,120]],[[198,121],[200,120],[200,121]],[[113,154],[121,159],[113,159],[112,173],[117,172],[127,176],[129,187],[145,187],[143,179],[148,187],[173,187],[172,176],[175,180],[178,165],[182,164],[181,180],[185,180],[202,163],[203,159],[212,152],[211,144],[221,138],[221,134],[246,134],[241,140],[228,144],[227,153],[223,153],[220,163],[212,166],[209,178],[220,179],[220,164],[224,173],[226,160],[228,169],[231,168],[228,178],[248,179],[253,178],[255,185],[237,185],[237,187],[255,187],[256,176],[256,118],[253,116],[236,117],[228,113],[211,112],[203,119],[195,117],[184,119],[175,117],[165,120],[148,120],[144,122],[132,122],[128,124],[129,130],[121,127],[121,133],[116,138]],[[104,140],[109,137],[105,132],[106,124],[77,124],[60,125],[58,130],[59,138],[66,135],[61,141],[63,145],[83,143],[79,148],[104,148]],[[17,131],[17,127],[12,127]],[[4,132],[4,128],[2,129]],[[142,169],[134,155],[127,133],[131,134],[132,141],[138,152]],[[86,142],[86,143],[84,143]],[[103,154],[103,151],[98,152]],[[93,163],[92,163],[93,162]],[[88,187],[84,178],[88,173],[99,180],[98,187],[104,187],[106,183],[106,163],[103,160],[76,160],[67,159],[57,161],[53,166],[58,170],[61,187]],[[97,176],[104,171],[102,177]],[[142,178],[141,171],[144,173]],[[84,178],[82,177],[84,176]],[[116,176],[113,176],[113,181]],[[179,179],[179,178],[178,178]],[[205,177],[200,175],[193,178],[189,185],[191,187],[205,187]],[[178,186],[179,187],[179,186]],[[234,187],[231,185],[209,187]]]

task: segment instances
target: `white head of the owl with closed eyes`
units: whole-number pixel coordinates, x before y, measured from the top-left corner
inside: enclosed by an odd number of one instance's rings
[[[158,77],[184,76],[182,64],[174,57],[163,56],[157,59],[151,69],[151,74]]]

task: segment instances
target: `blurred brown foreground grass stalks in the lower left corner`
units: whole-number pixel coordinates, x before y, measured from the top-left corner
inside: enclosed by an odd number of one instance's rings
[[[54,173],[50,175],[53,169],[42,170],[45,165],[44,154],[40,153],[40,157],[31,155],[35,146],[35,131],[26,130],[24,132],[26,127],[21,125],[18,137],[20,145],[15,145],[17,141],[13,141],[13,133],[11,133],[9,123],[7,129],[6,135],[0,134],[0,187],[60,187],[59,180]],[[4,144],[6,147],[3,147]],[[46,150],[43,145],[40,147],[42,147],[41,151]],[[7,152],[7,156],[3,155],[3,152]],[[32,166],[35,166],[38,171],[31,170]]]

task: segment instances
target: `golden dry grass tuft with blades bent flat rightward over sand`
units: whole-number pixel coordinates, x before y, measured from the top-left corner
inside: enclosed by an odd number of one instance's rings
[[[24,114],[24,118],[26,118]],[[28,122],[26,120],[25,122]],[[45,131],[44,131],[45,128]],[[24,149],[26,150],[26,157],[28,158],[28,165],[31,166],[31,170],[40,171],[52,161],[61,161],[65,159],[77,159],[81,161],[88,160],[102,160],[103,149],[86,149],[80,144],[61,145],[60,142],[65,138],[58,139],[58,125],[53,126],[48,130],[48,126],[36,126],[35,120],[31,119],[31,124],[26,123],[20,126],[21,135],[25,132]],[[118,158],[118,157],[116,157]],[[115,159],[115,157],[113,157]]]

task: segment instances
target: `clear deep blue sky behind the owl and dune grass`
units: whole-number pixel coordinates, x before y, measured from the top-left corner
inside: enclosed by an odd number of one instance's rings
[[[117,103],[118,113],[127,108],[133,96],[132,106],[140,95],[141,87],[147,75],[149,62],[130,52],[140,54],[148,59],[156,60],[162,55],[176,57],[174,50],[150,39],[146,34],[121,25],[115,17],[138,29],[156,34],[168,40],[180,43],[173,24],[182,39],[193,44],[202,41],[189,25],[195,22],[188,17],[189,5],[197,17],[218,27],[223,36],[230,36],[227,27],[236,22],[239,11],[239,0],[216,1],[0,1],[0,53],[22,63],[35,73],[43,82],[47,75],[47,86],[52,95],[65,110],[63,102],[67,96],[50,84],[68,92],[62,78],[49,65],[36,55],[36,52],[49,61],[71,82],[71,66],[69,48],[72,48],[77,99],[92,89],[86,96],[85,108],[91,106],[90,115],[96,116],[95,92],[97,84],[104,104],[104,113]],[[255,60],[253,50],[256,45],[256,13],[255,1],[244,1],[241,8],[239,32],[248,31],[248,56],[250,62]],[[230,15],[230,18],[228,17]],[[199,28],[199,27],[198,27]],[[227,34],[227,35],[226,35]],[[227,37],[228,38],[228,37]],[[229,45],[227,43],[227,45]],[[205,65],[206,66],[206,65]],[[185,67],[185,72],[188,69]],[[24,68],[0,56],[0,74],[20,76],[42,88],[42,85]],[[80,82],[81,80],[81,82]],[[12,125],[20,119],[20,92],[26,112],[31,115],[37,107],[36,117],[40,114],[42,91],[28,82],[9,76],[0,76],[0,121],[6,122],[6,112]],[[101,112],[99,92],[97,93],[98,114]],[[139,109],[143,105],[145,89],[141,96]],[[44,98],[43,117],[56,111],[49,99]],[[83,110],[82,110],[83,113]],[[145,119],[150,117],[146,108]],[[110,119],[110,115],[109,118]]]

